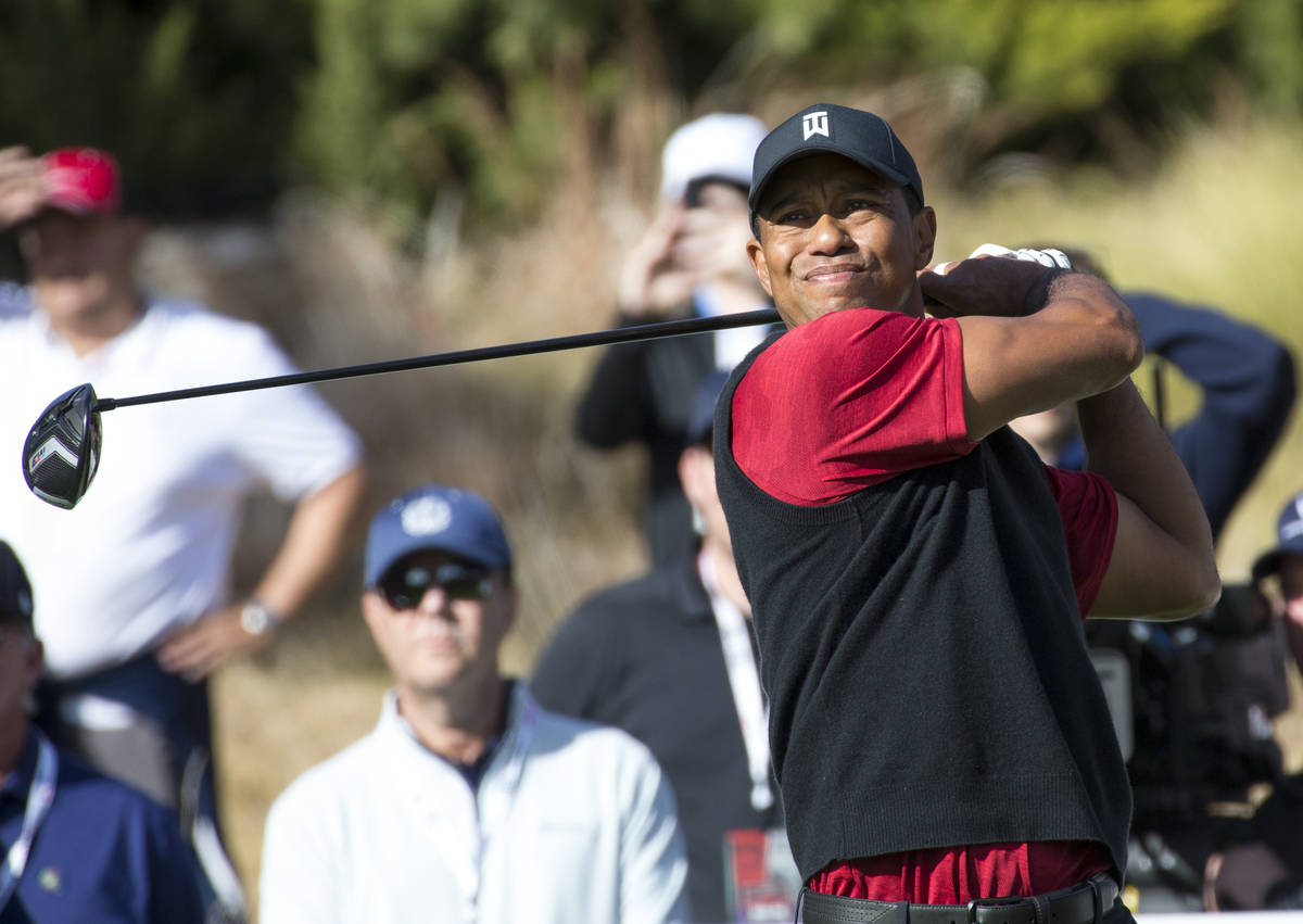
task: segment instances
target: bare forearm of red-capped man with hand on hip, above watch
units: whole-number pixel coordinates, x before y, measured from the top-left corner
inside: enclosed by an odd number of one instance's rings
[[[253,596],[279,616],[293,616],[339,560],[365,489],[366,470],[358,464],[300,500]]]

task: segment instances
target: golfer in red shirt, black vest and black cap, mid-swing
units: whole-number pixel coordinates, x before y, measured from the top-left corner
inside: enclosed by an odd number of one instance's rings
[[[756,151],[748,253],[788,330],[724,387],[715,468],[801,914],[1127,921],[1131,795],[1081,618],[1214,602],[1208,523],[1122,300],[1046,252],[925,271],[924,202],[868,112],[812,106]],[[1005,426],[1066,400],[1085,473]]]

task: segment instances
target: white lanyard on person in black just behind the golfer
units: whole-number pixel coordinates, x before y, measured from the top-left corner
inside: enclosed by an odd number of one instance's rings
[[[710,594],[710,609],[719,626],[724,670],[728,671],[728,686],[732,687],[737,723],[741,726],[741,740],[747,745],[751,807],[757,812],[764,812],[774,804],[774,792],[769,787],[769,710],[765,708],[765,695],[760,688],[756,654],[751,648],[751,629],[747,628],[747,616],[741,614],[741,610],[719,593],[715,572],[705,549],[697,555],[697,571],[701,573],[701,583],[706,588],[706,593]]]

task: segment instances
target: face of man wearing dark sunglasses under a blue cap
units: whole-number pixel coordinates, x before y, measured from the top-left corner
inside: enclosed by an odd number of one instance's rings
[[[364,594],[362,615],[399,687],[439,692],[496,674],[515,603],[503,575],[422,551]]]

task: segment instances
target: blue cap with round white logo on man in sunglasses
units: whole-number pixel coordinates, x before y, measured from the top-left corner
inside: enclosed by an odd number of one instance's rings
[[[511,567],[511,546],[493,506],[474,491],[426,485],[395,498],[371,520],[365,586],[375,586],[414,551],[444,551],[490,571]]]

